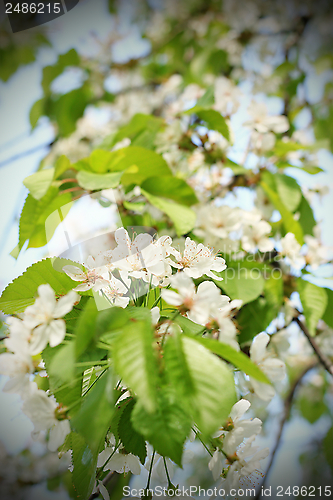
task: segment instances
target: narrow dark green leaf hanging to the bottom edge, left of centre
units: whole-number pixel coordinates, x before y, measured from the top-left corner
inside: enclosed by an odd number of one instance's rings
[[[97,453],[91,449],[80,434],[71,433],[71,448],[73,460],[72,480],[78,500],[89,498],[96,481]]]

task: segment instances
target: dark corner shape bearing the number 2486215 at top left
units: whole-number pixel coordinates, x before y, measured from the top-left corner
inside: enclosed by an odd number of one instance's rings
[[[65,15],[80,0],[0,0],[1,18],[5,14],[13,33],[35,28]]]

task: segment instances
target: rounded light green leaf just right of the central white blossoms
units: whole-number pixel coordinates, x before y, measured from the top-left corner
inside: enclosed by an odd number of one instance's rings
[[[241,299],[243,304],[247,304],[261,295],[265,280],[258,269],[238,269],[232,277],[229,274],[229,271],[224,273],[224,280],[217,281],[216,284],[231,299]]]

